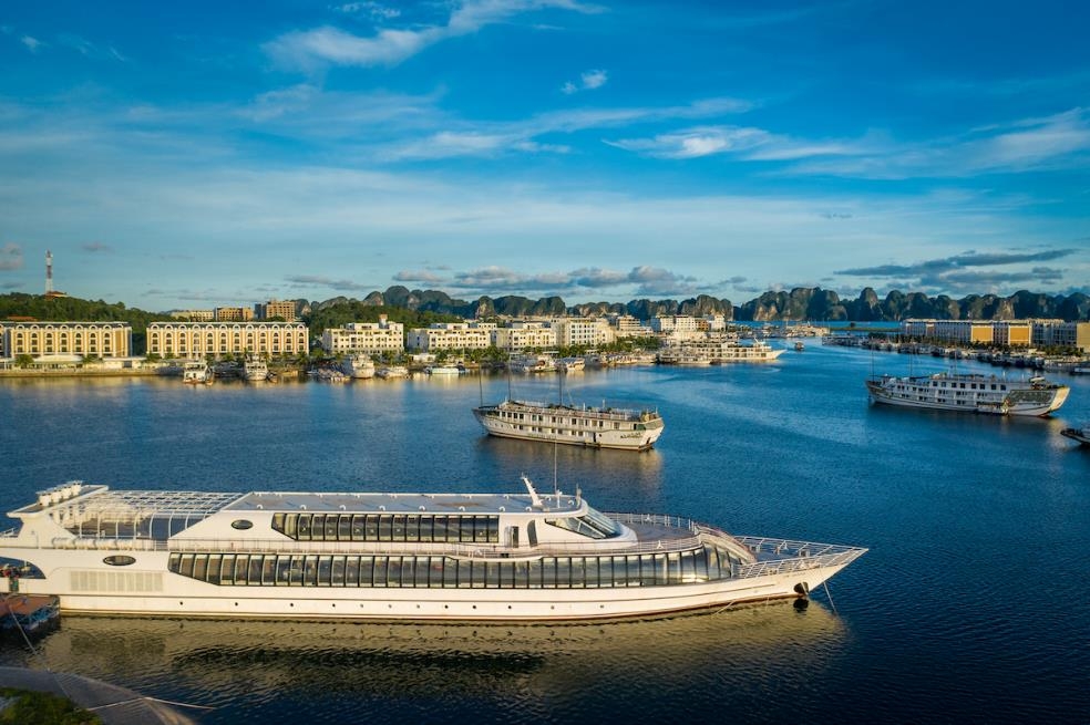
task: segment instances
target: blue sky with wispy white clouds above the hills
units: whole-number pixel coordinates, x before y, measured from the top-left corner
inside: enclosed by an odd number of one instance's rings
[[[8,2],[0,292],[1090,292],[1090,4]]]

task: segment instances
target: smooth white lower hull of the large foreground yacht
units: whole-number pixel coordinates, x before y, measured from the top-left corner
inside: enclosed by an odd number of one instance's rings
[[[10,552],[4,551],[3,555]],[[795,599],[851,559],[742,579],[677,586],[580,589],[362,588],[216,586],[166,570],[166,552],[137,553],[142,570],[102,571],[101,551],[35,552],[44,579],[24,579],[21,594],[55,594],[62,613],[292,620],[562,621],[661,615],[754,601]],[[58,560],[50,566],[51,558]],[[94,571],[93,579],[75,572]],[[74,591],[72,583],[99,591]],[[10,581],[0,579],[0,590]],[[150,590],[157,591],[150,591]]]

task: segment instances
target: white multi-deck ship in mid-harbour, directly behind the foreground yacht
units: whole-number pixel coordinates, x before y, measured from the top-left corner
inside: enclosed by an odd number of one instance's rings
[[[662,435],[658,411],[503,401],[473,408],[490,435],[590,448],[647,450]]]

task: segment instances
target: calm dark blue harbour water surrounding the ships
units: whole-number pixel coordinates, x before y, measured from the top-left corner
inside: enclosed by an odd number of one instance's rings
[[[914,372],[942,362],[924,359]],[[575,403],[657,406],[645,454],[485,437],[504,379],[193,390],[0,382],[0,506],[71,478],[208,490],[521,490],[871,548],[803,612],[580,625],[65,618],[54,670],[214,706],[202,723],[1090,722],[1090,381],[1050,421],[872,407],[904,355],[587,371]],[[998,372],[984,365],[968,365]],[[1055,376],[1053,376],[1055,377]],[[554,400],[557,377],[516,379]],[[24,652],[0,651],[6,663]],[[37,664],[34,666],[40,666]]]

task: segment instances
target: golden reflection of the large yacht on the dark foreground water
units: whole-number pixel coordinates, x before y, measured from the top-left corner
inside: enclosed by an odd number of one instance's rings
[[[438,704],[448,719],[471,711],[504,719],[498,712],[513,703],[537,703],[529,706],[547,704],[539,714],[548,719],[584,721],[587,710],[615,710],[621,694],[647,688],[656,693],[651,708],[678,706],[667,704],[668,693],[688,693],[687,712],[711,715],[716,693],[754,677],[794,672],[805,686],[844,640],[842,622],[816,603],[805,611],[777,603],[564,625],[65,617],[40,649],[54,671],[217,706],[203,722],[260,712],[276,721],[285,708],[298,717],[298,705],[286,704],[296,701],[309,703],[316,722],[345,722],[361,703],[380,705],[387,719],[408,703]]]

